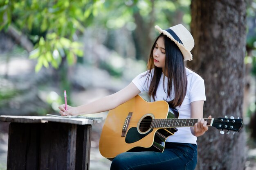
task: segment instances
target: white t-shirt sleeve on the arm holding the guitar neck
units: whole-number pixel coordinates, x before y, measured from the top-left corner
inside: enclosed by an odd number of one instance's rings
[[[204,79],[196,77],[190,88],[190,102],[206,100]]]

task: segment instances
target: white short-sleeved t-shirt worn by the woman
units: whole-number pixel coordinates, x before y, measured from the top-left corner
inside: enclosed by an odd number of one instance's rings
[[[154,71],[154,70],[153,70]],[[151,74],[154,74],[154,72],[151,72]],[[146,71],[147,72],[147,71]],[[143,76],[146,74],[146,72],[139,74],[136,76],[133,80],[132,83],[136,85],[136,87],[140,90],[140,92],[148,92],[149,86],[151,79],[148,81],[146,76]],[[152,78],[152,76],[149,76]],[[186,77],[187,77],[187,91],[186,91],[186,96],[182,102],[182,105],[180,107],[176,107],[178,109],[180,115],[180,119],[189,119],[190,118],[190,111],[191,111],[191,102],[194,101],[199,101],[199,100],[206,100],[205,97],[205,89],[204,89],[204,80],[202,77],[200,77],[198,74],[195,72],[189,70],[186,68]],[[155,96],[155,100],[166,100],[166,101],[171,101],[174,98],[174,92],[172,92],[172,97],[167,98],[167,77],[164,78],[165,80],[165,87],[163,87],[163,78],[164,74],[162,73],[161,79],[159,81],[159,85],[157,87],[157,92]],[[165,91],[164,91],[165,88]],[[173,89],[173,88],[172,88]],[[151,96],[151,102],[153,102],[153,97]],[[177,128],[178,131],[175,132],[174,135],[169,136],[166,139],[166,142],[178,142],[178,143],[190,143],[190,144],[196,144],[197,137],[192,135],[190,131],[190,127],[181,127]]]

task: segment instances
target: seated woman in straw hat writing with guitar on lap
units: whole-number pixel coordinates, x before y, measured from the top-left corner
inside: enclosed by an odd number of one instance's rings
[[[178,128],[175,135],[166,139],[163,153],[146,151],[117,155],[111,170],[193,170],[197,163],[197,136],[208,130],[202,118],[206,100],[204,80],[184,65],[184,61],[192,60],[192,35],[182,24],[166,30],[155,28],[160,35],[151,49],[148,71],[115,94],[79,107],[68,106],[67,110],[61,105],[59,113],[66,116],[108,111],[146,91],[151,101],[166,100],[178,109],[179,118],[198,118],[198,123],[191,128]]]

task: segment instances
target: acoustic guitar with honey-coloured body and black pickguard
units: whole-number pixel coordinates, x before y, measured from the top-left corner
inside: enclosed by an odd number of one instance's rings
[[[192,127],[198,119],[178,119],[179,112],[169,109],[166,101],[147,102],[139,95],[109,111],[103,125],[99,151],[110,160],[129,151],[164,151],[168,136],[174,135],[177,127]],[[204,119],[207,126],[231,131],[243,127],[242,119]]]

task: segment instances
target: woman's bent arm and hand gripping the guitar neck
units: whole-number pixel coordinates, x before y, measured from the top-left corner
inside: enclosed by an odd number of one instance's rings
[[[203,100],[191,102],[191,119],[198,119],[198,123],[195,123],[195,126],[190,128],[194,136],[201,136],[208,131],[207,121],[203,119],[203,107]],[[208,118],[211,119],[211,116]]]

